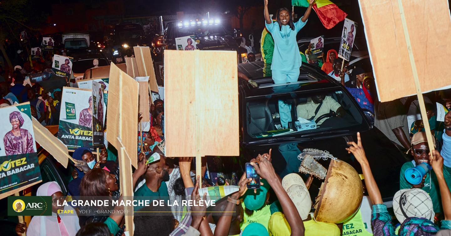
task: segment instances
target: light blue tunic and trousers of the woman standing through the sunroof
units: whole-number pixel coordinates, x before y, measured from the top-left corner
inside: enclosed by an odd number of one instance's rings
[[[274,54],[272,55],[272,80],[274,84],[296,82],[299,78],[299,68],[302,65],[302,57],[299,53],[296,35],[304,27],[307,21],[299,19],[295,23],[295,30],[291,30],[289,25],[279,28],[279,23],[273,22],[265,26],[274,39]],[[281,86],[279,86],[281,87]],[[277,87],[274,88],[274,91]],[[287,128],[291,121],[291,106],[279,100],[279,114],[282,127]]]

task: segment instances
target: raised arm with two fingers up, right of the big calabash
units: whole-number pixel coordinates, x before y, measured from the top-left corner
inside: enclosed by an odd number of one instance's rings
[[[369,168],[368,159],[366,158],[364,148],[362,146],[362,140],[360,139],[360,133],[357,133],[357,144],[355,142],[348,142],[349,148],[346,148],[348,153],[354,154],[355,159],[360,163],[362,171],[365,177],[365,186],[368,190],[369,198],[373,204],[382,204],[382,196],[376,181],[374,180],[373,173]]]

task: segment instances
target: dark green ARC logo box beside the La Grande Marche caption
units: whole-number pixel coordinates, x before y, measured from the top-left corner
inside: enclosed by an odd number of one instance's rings
[[[51,216],[51,196],[9,196],[9,216]]]

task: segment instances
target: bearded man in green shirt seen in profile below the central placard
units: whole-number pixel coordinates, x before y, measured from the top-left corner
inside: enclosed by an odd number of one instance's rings
[[[147,171],[144,174],[146,183],[135,191],[135,197],[139,196],[152,197],[151,200],[167,199],[169,197],[168,187],[165,181],[169,181],[169,166],[166,163],[166,157],[162,154],[160,160],[147,164]],[[146,156],[146,159],[150,158],[150,154]],[[140,207],[136,207],[140,208]]]

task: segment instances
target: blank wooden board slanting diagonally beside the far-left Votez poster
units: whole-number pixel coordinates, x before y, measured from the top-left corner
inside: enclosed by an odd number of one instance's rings
[[[32,117],[34,138],[53,158],[55,158],[64,168],[67,168],[68,160],[74,159],[69,155],[66,145],[55,137],[46,127],[43,127],[36,118]]]

